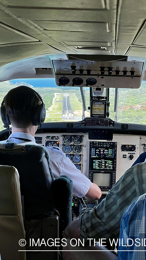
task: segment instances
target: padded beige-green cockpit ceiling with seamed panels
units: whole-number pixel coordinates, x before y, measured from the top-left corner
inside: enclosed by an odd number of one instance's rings
[[[146,58],[145,0],[0,0],[0,66],[38,55]]]

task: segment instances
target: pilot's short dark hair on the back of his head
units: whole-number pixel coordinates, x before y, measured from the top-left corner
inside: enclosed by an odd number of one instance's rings
[[[5,97],[5,109],[10,122],[16,128],[27,128],[32,124],[39,98],[31,88],[19,86],[11,89]]]

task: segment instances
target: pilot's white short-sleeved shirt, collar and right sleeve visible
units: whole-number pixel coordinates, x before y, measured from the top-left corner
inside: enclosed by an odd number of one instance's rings
[[[16,144],[28,142],[27,140],[24,141],[17,138],[23,138],[35,142],[35,138],[32,135],[21,132],[12,133],[7,142],[14,142]],[[58,150],[53,147],[46,147],[46,149],[50,155],[50,166],[54,177],[57,178],[61,175],[67,175],[73,181],[73,194],[79,198],[85,196],[90,187],[90,180],[81,173],[76,166],[74,166],[72,161],[65,156],[65,153],[63,153],[60,148]]]

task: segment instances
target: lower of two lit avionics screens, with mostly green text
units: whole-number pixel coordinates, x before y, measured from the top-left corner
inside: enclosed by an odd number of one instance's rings
[[[92,170],[113,170],[113,160],[92,160]]]

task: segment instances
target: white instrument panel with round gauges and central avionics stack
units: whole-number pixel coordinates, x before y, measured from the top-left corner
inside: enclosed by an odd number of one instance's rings
[[[140,135],[113,134],[115,147],[111,146],[111,141],[107,140],[89,140],[88,133],[37,133],[35,140],[42,146],[56,146],[62,149],[75,167],[89,178],[91,171],[111,171],[115,182],[128,170],[134,161],[142,153],[146,137]],[[96,143],[96,145],[95,145]],[[90,167],[90,153],[92,157],[92,166]],[[116,162],[115,160],[116,153]],[[112,159],[113,157],[113,159]],[[111,159],[110,159],[111,158]],[[100,161],[102,160],[102,167]],[[116,170],[114,165],[116,163]],[[95,164],[95,165],[94,165]],[[105,165],[104,165],[105,164]],[[108,165],[107,165],[108,164]],[[104,165],[104,168],[103,168]],[[102,169],[103,168],[103,169]],[[106,170],[107,168],[107,170]],[[115,173],[113,172],[115,171]],[[115,175],[113,175],[115,174]],[[108,175],[106,177],[108,178]],[[95,175],[96,176],[96,175]],[[99,175],[100,176],[100,175]],[[101,181],[102,176],[100,176]],[[90,178],[89,178],[90,179]],[[113,181],[113,180],[112,180]],[[103,194],[108,192],[102,190]]]

